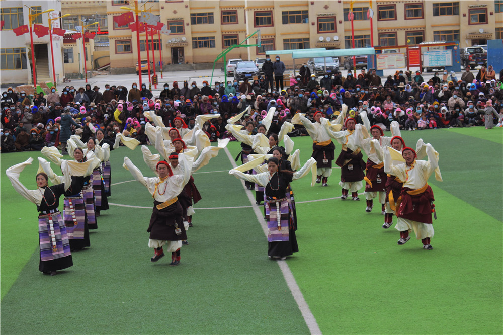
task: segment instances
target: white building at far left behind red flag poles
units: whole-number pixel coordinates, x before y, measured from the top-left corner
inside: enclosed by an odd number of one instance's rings
[[[23,25],[29,26],[28,15],[42,13],[49,9],[54,11],[44,13],[33,20],[33,24],[49,26],[49,16],[58,18],[61,16],[61,2],[59,0],[12,0],[1,3],[0,20],[4,22],[0,32],[0,82],[10,83],[33,83],[32,57],[30,33],[16,36],[13,29]],[[26,7],[28,6],[28,7]],[[52,26],[59,28],[60,20],[52,20]],[[63,81],[64,68],[61,53],[63,38],[58,35],[52,36],[54,69],[56,81]],[[33,49],[35,54],[35,74],[37,82],[53,82],[51,44],[49,35],[37,37],[33,32]]]

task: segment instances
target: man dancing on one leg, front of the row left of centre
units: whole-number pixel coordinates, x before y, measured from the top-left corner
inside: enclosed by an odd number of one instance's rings
[[[159,161],[156,164],[157,177],[143,177],[140,170],[124,157],[124,168],[129,170],[134,179],[145,186],[154,198],[154,208],[150,217],[147,232],[150,233],[148,247],[154,248],[151,262],[157,262],[164,256],[162,247],[172,252],[171,266],[180,264],[180,248],[182,240],[187,239],[183,224],[183,209],[177,196],[182,192],[190,178],[191,165],[194,159],[185,153],[178,155],[182,175],[173,175],[170,164]]]

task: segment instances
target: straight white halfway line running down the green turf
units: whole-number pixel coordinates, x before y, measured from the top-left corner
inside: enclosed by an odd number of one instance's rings
[[[224,148],[225,153],[227,154],[227,157],[229,158],[231,164],[233,167],[237,167],[236,162],[234,161],[234,158],[232,158],[229,150],[227,148]],[[251,204],[255,203],[255,199],[253,196],[251,196],[251,192],[248,192],[244,185],[244,181],[241,181],[241,185],[243,186],[243,189],[246,191],[246,195],[248,196],[248,199]],[[255,215],[257,216],[257,220],[260,222],[262,226],[262,230],[264,231],[264,234],[267,236],[267,224],[264,221],[264,214],[261,212],[259,206],[253,206]],[[293,298],[297,302],[297,305],[299,306],[300,312],[302,313],[302,316],[304,317],[304,321],[307,324],[307,327],[309,328],[309,331],[311,334],[321,334],[321,330],[319,329],[318,323],[316,322],[316,319],[314,318],[313,313],[309,309],[309,306],[307,305],[304,296],[302,295],[302,292],[300,291],[299,286],[297,285],[297,282],[295,281],[295,278],[293,277],[292,271],[290,270],[290,267],[285,261],[278,260],[278,265],[281,269],[281,272],[283,273],[283,277],[285,277],[285,281],[288,285],[288,288],[292,292]]]

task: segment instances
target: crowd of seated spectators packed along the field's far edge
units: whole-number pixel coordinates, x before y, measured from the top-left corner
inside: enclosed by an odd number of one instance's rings
[[[279,60],[277,60],[278,62]],[[272,74],[258,77],[251,83],[229,80],[210,85],[203,81],[164,83],[158,97],[154,97],[145,84],[131,87],[105,85],[104,90],[91,85],[66,86],[61,92],[53,87],[47,96],[34,97],[13,88],[2,93],[1,152],[40,150],[43,146],[59,144],[61,114],[69,113],[77,126],[70,125],[72,134],[80,135],[86,142],[93,130],[101,128],[106,138],[114,140],[122,132],[141,144],[149,144],[145,135],[144,111],[155,111],[166,127],[174,126],[177,117],[184,119],[189,128],[195,125],[200,114],[221,116],[203,126],[212,141],[232,137],[225,130],[228,118],[246,110],[243,124],[249,121],[258,126],[271,107],[276,108],[270,133],[278,133],[284,121],[296,113],[311,118],[322,111],[327,118],[339,115],[341,107],[349,107],[348,117],[362,122],[359,114],[366,110],[372,124],[388,128],[397,121],[403,130],[443,127],[484,126],[498,123],[503,105],[503,83],[491,66],[482,67],[478,73],[467,67],[458,78],[456,73],[435,72],[427,80],[420,71],[396,71],[384,83],[375,69],[324,73],[319,80],[302,65],[290,86],[277,89],[272,85]],[[283,73],[281,73],[283,74]],[[283,77],[281,78],[281,82]],[[499,122],[500,124],[501,122]],[[305,129],[296,125],[290,135],[306,135]]]

